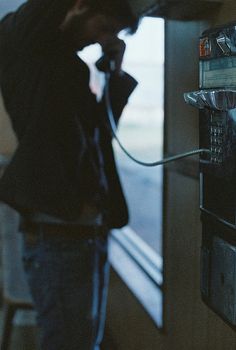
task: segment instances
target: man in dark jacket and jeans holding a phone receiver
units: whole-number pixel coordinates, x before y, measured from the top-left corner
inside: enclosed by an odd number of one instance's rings
[[[136,86],[121,71],[125,1],[28,0],[0,23],[0,83],[19,146],[0,199],[22,217],[24,267],[43,350],[99,349],[108,285],[107,237],[128,221],[104,100],[76,52],[112,57],[118,121]]]

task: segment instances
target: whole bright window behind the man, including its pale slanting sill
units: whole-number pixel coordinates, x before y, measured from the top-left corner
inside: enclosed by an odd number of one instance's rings
[[[122,36],[127,48],[123,68],[139,82],[119,123],[118,137],[137,159],[162,158],[164,105],[164,21],[144,18],[137,33]],[[80,53],[89,64],[101,55],[98,46]],[[96,72],[95,72],[96,73]],[[98,91],[103,77],[93,74]],[[114,230],[110,242],[113,268],[163,327],[162,168],[135,164],[114,141],[115,156],[130,211],[129,226]],[[120,232],[122,231],[122,232]]]

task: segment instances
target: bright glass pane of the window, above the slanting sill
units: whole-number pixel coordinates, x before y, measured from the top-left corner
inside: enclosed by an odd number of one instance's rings
[[[146,162],[162,158],[164,102],[164,21],[144,18],[137,33],[124,37],[124,70],[139,82],[119,124],[118,137]],[[114,141],[130,211],[130,227],[162,254],[162,167],[135,164]]]

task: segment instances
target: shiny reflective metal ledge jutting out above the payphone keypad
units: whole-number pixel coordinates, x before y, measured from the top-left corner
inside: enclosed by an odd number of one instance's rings
[[[198,109],[229,111],[236,108],[236,90],[199,90],[184,94],[185,102]]]

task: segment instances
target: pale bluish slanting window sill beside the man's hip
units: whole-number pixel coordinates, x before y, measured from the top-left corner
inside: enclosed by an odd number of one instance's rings
[[[113,230],[109,260],[120,278],[139,300],[155,325],[163,328],[163,263],[130,228]]]

